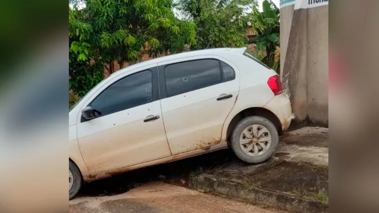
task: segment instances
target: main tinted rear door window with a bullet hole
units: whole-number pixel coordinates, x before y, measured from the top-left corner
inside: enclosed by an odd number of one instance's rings
[[[165,77],[169,97],[222,82],[220,63],[215,59],[168,65]]]

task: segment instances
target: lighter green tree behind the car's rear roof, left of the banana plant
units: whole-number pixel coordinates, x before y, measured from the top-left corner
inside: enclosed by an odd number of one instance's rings
[[[192,49],[244,46],[249,9],[256,0],[179,0],[178,9],[196,24]]]

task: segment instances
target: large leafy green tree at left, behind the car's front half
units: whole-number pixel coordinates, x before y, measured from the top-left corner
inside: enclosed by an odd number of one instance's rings
[[[174,16],[172,0],[70,3],[70,85],[78,85],[72,89],[79,94],[101,81],[104,67],[112,74],[114,61],[123,68],[145,53],[177,52],[196,42],[194,24]],[[78,9],[78,3],[85,7]]]

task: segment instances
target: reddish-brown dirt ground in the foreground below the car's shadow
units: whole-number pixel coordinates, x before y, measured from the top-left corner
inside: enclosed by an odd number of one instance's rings
[[[279,213],[163,182],[149,182],[126,193],[79,197],[70,213]]]

